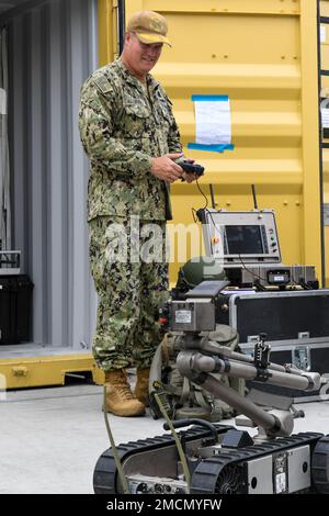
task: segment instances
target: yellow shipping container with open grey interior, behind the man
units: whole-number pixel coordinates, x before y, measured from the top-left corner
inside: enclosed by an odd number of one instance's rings
[[[70,373],[103,380],[90,349],[95,298],[78,97],[89,71],[118,55],[125,19],[137,10],[168,19],[173,47],[163,49],[155,75],[173,102],[185,154],[206,168],[200,186],[208,203],[213,184],[218,207],[252,209],[256,184],[259,207],[276,212],[283,261],[315,265],[321,279],[329,150],[322,183],[317,0],[84,0],[67,2],[64,13],[55,0],[20,3],[12,10],[8,4],[2,24],[10,22],[13,225],[22,271],[35,284],[34,328],[30,345],[1,346],[0,391],[64,383]],[[321,1],[321,15],[329,16],[328,1]],[[321,68],[329,70],[329,26],[321,31]],[[321,89],[329,97],[328,76]],[[186,149],[195,141],[192,94],[229,97],[234,152]],[[186,226],[194,224],[192,207],[205,203],[194,183],[174,184],[172,201],[173,223]],[[175,257],[172,282],[185,259]]]

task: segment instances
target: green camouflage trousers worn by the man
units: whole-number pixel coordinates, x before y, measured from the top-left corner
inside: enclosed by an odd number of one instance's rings
[[[104,371],[147,368],[161,340],[158,310],[168,299],[166,223],[99,216],[89,228],[99,295],[93,356]]]

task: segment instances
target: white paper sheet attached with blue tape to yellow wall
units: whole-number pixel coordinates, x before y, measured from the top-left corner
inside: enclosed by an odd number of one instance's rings
[[[194,100],[194,105],[196,143],[201,145],[230,144],[229,99],[223,97],[223,100]]]

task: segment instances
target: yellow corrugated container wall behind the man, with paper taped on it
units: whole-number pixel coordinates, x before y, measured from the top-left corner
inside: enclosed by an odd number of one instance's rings
[[[254,183],[259,207],[276,212],[283,261],[315,265],[321,278],[317,1],[124,3],[126,20],[139,9],[168,19],[172,48],[163,49],[155,76],[173,102],[185,154],[206,168],[204,192],[213,183],[218,206],[249,210]],[[110,18],[116,4],[100,0]],[[101,26],[103,64],[113,58],[113,25]],[[192,94],[229,97],[234,152],[186,149],[195,142]],[[173,186],[172,200],[174,222],[186,225],[192,207],[205,203],[194,184],[184,183]]]

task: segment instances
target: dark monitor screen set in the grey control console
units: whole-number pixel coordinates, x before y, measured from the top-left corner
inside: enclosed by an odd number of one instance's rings
[[[225,226],[228,255],[262,255],[260,226]]]

